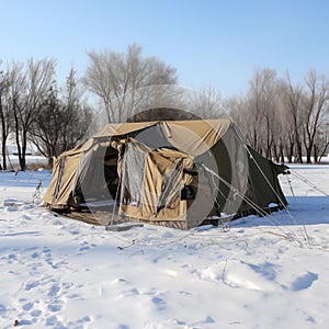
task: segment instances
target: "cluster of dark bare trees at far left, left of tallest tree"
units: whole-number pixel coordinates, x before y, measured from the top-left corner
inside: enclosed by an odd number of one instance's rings
[[[15,141],[21,170],[26,169],[29,143],[52,159],[83,137],[92,111],[82,101],[75,70],[58,89],[55,68],[54,59],[31,58],[25,64],[8,64],[1,71],[1,169],[8,167],[9,137]]]

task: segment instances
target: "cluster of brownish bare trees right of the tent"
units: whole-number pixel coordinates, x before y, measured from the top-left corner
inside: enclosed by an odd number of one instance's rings
[[[311,163],[328,151],[329,81],[315,70],[293,83],[288,73],[259,69],[246,95],[226,106],[247,143],[270,159]]]

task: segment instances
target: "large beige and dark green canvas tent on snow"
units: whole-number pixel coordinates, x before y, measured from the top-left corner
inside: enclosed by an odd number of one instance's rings
[[[44,203],[67,213],[107,204],[122,220],[189,229],[285,207],[285,171],[229,120],[106,124],[54,159]]]

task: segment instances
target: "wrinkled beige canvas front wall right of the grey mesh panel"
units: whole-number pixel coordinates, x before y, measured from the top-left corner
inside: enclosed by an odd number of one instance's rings
[[[184,184],[190,184],[192,179],[183,173],[184,168],[191,168],[193,158],[182,152],[161,149],[150,150],[131,140],[129,147],[135,147],[138,151],[146,151],[146,164],[144,168],[143,198],[140,204],[126,204],[121,202],[120,214],[147,220],[182,220],[186,214],[186,202],[181,201],[180,192]],[[133,169],[138,170],[138,169]],[[170,191],[166,194],[166,200],[161,209],[161,196],[166,179],[170,180],[175,175],[170,185]],[[168,182],[167,182],[168,184]],[[124,195],[122,195],[124,198]]]

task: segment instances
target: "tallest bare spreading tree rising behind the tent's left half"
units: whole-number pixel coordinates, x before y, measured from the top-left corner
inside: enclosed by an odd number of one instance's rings
[[[177,82],[174,68],[156,57],[143,57],[138,45],[129,45],[125,54],[104,50],[88,55],[83,82],[102,100],[109,122],[123,122],[136,114],[136,106],[149,97],[136,90]]]

